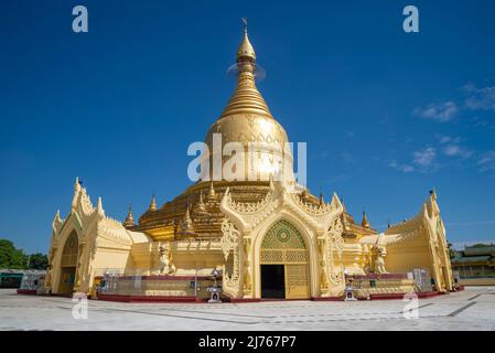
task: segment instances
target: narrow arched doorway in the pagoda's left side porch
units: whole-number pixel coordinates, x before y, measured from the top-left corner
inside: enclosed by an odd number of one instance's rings
[[[76,279],[77,255],[79,242],[76,232],[71,233],[65,240],[61,259],[61,277],[58,279],[58,295],[72,295]]]

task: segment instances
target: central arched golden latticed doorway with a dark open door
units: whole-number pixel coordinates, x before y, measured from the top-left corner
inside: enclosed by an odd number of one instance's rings
[[[282,220],[272,225],[260,254],[261,298],[310,298],[310,256],[292,224]]]

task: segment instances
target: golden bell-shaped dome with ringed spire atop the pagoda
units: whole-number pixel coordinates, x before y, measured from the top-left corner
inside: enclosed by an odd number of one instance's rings
[[[256,54],[249,42],[247,30],[237,52],[237,86],[220,117],[213,124],[206,135],[206,145],[213,151],[214,133],[222,133],[222,149],[228,142],[240,142],[247,147],[249,142],[258,142],[265,150],[261,158],[265,161],[261,169],[265,172],[271,168],[273,153],[283,151],[289,142],[283,127],[275,120],[255,82]],[[290,156],[292,162],[292,157]],[[292,164],[290,164],[292,169]],[[212,170],[212,169],[211,169]],[[275,167],[270,173],[279,172]],[[292,171],[291,171],[292,172]]]

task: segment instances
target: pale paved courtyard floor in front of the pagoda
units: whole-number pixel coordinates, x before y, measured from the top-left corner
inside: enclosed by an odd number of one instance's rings
[[[89,300],[87,319],[74,319],[69,298],[0,290],[0,330],[495,330],[495,287],[420,299],[419,318],[412,320],[403,317],[405,304],[401,300],[222,304]]]

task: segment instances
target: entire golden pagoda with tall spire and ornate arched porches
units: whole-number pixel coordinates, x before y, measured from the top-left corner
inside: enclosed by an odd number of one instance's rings
[[[289,138],[256,87],[256,65],[245,25],[236,88],[205,143],[214,150],[220,136],[222,149],[228,142],[262,145],[256,169],[244,171],[260,178],[217,180],[209,159],[213,175],[202,174],[161,206],[153,195],[137,224],[130,207],[123,223],[105,214],[100,199],[94,207],[76,180],[71,212],[53,221],[47,290],[109,300],[197,300],[208,297],[213,270],[222,272],[223,297],[230,301],[343,298],[351,277],[362,297],[426,291],[418,274],[429,276],[434,291],[453,289],[434,192],[417,216],[379,234],[366,213],[357,224],[336,194],[325,202],[299,185],[290,153],[289,163],[273,163]],[[132,285],[137,277],[140,286]],[[192,280],[200,290],[192,292]]]

